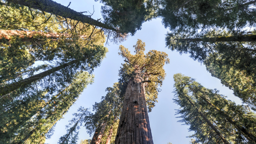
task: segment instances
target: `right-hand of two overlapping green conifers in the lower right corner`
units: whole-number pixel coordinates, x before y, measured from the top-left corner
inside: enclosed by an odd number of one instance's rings
[[[236,133],[235,143],[255,143],[255,116],[251,111],[248,111],[243,106],[237,106],[234,102],[226,100],[224,96],[218,94],[218,91],[207,89],[197,83],[190,77],[181,74],[175,74],[175,93],[177,97],[183,96],[190,99],[190,103],[198,105],[201,111],[205,111],[207,116],[215,120],[216,125],[220,127],[226,136],[231,136],[232,129]],[[182,93],[183,92],[183,93]],[[181,98],[180,98],[181,99]],[[175,99],[177,102],[178,99]],[[229,138],[230,139],[230,138]],[[247,139],[247,140],[246,140]]]

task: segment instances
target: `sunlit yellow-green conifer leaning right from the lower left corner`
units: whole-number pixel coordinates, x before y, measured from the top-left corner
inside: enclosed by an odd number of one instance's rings
[[[66,114],[84,88],[93,82],[92,78],[87,72],[77,74],[70,87],[54,96],[53,100],[50,99],[42,103],[46,104],[44,108],[38,110],[33,117],[30,117],[29,120],[23,123],[22,127],[14,131],[19,133],[19,135],[13,137],[10,143],[22,143],[25,141],[32,144],[50,136],[49,131],[53,131],[55,123]],[[35,109],[26,109],[27,112],[33,112],[33,110]]]

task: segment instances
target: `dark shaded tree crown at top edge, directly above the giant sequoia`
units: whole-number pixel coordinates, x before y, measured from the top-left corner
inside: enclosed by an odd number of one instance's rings
[[[100,0],[104,4],[101,13],[104,22],[118,27],[120,32],[134,35],[141,29],[142,23],[156,17],[155,5],[152,1],[110,1]]]

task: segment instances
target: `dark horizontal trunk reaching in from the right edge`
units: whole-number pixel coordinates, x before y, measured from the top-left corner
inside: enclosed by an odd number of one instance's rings
[[[193,42],[256,42],[256,35],[237,35],[226,37],[211,37],[211,38],[184,38],[174,39],[180,41],[193,41]]]

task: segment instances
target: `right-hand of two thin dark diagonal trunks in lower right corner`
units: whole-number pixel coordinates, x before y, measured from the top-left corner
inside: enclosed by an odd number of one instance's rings
[[[191,89],[192,91],[194,91],[196,93],[196,91],[189,87],[189,89]],[[256,137],[254,135],[252,135],[249,131],[247,131],[247,129],[245,129],[244,127],[240,126],[236,121],[234,121],[232,118],[230,118],[224,111],[222,111],[221,109],[219,109],[217,106],[215,106],[214,104],[212,104],[208,99],[206,99],[205,97],[203,97],[202,95],[199,95],[200,98],[202,98],[208,105],[210,105],[211,107],[213,107],[214,109],[216,109],[217,111],[220,112],[220,114],[222,116],[224,116],[228,122],[230,122],[233,126],[235,126],[237,128],[237,130],[242,131],[243,136],[246,137],[246,139],[248,141],[251,142],[255,142],[256,143]]]

